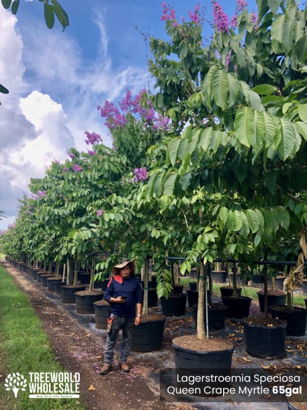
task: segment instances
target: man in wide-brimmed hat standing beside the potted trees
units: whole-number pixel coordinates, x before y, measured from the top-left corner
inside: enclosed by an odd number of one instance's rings
[[[114,266],[112,270],[113,276],[107,284],[104,299],[111,304],[113,323],[106,337],[104,365],[100,371],[102,375],[112,370],[114,347],[120,330],[122,330],[123,337],[120,346],[120,367],[124,372],[129,372],[127,357],[131,345],[132,329],[133,325],[138,326],[141,323],[142,317],[141,284],[135,278],[135,263],[125,260]]]

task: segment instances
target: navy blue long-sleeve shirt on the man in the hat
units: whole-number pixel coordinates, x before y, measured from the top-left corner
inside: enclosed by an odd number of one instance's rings
[[[135,317],[136,304],[143,303],[141,294],[141,283],[134,276],[123,279],[119,283],[112,278],[109,287],[106,288],[104,299],[109,302],[111,298],[118,296],[127,297],[125,303],[111,303],[111,312],[116,316]]]

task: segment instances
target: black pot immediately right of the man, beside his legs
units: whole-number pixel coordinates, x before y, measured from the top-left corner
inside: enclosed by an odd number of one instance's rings
[[[133,326],[131,350],[134,352],[153,352],[162,347],[164,324],[166,318],[142,321]]]

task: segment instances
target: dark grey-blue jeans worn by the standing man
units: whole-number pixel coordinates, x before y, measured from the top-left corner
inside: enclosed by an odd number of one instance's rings
[[[131,336],[134,322],[134,317],[114,316],[111,331],[107,334],[106,337],[104,363],[113,363],[114,347],[118,339],[120,330],[122,330],[123,339],[120,345],[119,362],[126,363],[130,351]]]

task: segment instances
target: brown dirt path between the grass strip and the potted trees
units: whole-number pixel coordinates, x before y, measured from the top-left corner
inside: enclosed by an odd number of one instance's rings
[[[193,408],[192,406],[176,407],[161,402],[159,396],[148,387],[145,373],[142,375],[142,369],[138,366],[134,366],[130,373],[124,373],[117,365],[113,372],[101,376],[99,368],[103,363],[104,352],[92,335],[86,334],[84,329],[61,309],[60,305],[48,300],[44,292],[33,286],[21,272],[16,271],[8,263],[4,263],[4,267],[14,278],[18,288],[28,295],[57,359],[68,371],[80,373],[81,398],[88,409],[183,410]],[[39,372],[39,368],[37,371]],[[88,391],[91,384],[95,387],[95,391]]]

